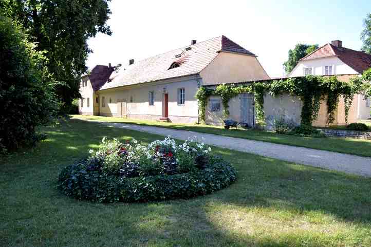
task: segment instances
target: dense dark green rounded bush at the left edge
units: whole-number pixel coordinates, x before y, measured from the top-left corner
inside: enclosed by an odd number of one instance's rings
[[[35,127],[49,123],[57,110],[45,52],[27,38],[22,27],[0,16],[0,153],[39,140]]]

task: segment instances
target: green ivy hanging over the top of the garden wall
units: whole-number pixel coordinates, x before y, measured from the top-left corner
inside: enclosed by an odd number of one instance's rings
[[[371,71],[371,70],[370,70]],[[371,75],[371,72],[369,73]],[[355,78],[349,82],[338,81],[337,77],[321,77],[308,75],[307,77],[295,77],[285,80],[273,80],[265,82],[253,82],[249,85],[220,84],[215,89],[201,87],[196,93],[199,104],[199,117],[205,121],[207,100],[210,96],[220,96],[224,107],[223,115],[229,117],[229,101],[240,93],[253,93],[256,111],[256,124],[264,126],[264,96],[266,93],[273,97],[282,93],[298,97],[302,103],[301,124],[311,126],[316,120],[320,110],[321,100],[326,100],[327,123],[331,125],[335,121],[335,114],[340,97],[343,96],[345,103],[345,121],[348,121],[348,113],[354,94],[363,93],[366,97],[371,94],[371,84],[366,83],[368,78]]]

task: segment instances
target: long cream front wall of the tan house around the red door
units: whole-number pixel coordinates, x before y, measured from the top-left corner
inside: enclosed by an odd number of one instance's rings
[[[117,102],[126,101],[126,115],[131,119],[158,120],[162,116],[163,93],[169,97],[169,119],[175,123],[197,122],[197,100],[195,94],[198,90],[195,77],[163,80],[153,83],[137,84],[117,89],[98,91],[100,98],[100,115],[119,116]],[[186,101],[178,105],[178,89],[184,88]],[[149,104],[149,92],[155,92],[154,105]],[[103,106],[103,97],[105,104]]]

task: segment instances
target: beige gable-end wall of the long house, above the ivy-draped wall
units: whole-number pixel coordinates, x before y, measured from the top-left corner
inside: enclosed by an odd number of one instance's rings
[[[200,76],[202,85],[269,79],[255,56],[232,52],[220,52]]]

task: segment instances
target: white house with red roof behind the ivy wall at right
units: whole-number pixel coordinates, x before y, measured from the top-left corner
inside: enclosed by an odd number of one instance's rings
[[[359,76],[371,67],[371,54],[351,50],[342,46],[339,40],[332,41],[302,58],[288,77],[313,75],[342,75],[345,80]],[[370,118],[370,99],[359,94],[355,98],[357,119]]]

